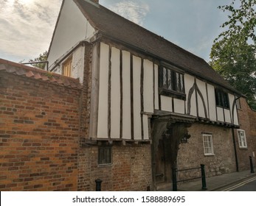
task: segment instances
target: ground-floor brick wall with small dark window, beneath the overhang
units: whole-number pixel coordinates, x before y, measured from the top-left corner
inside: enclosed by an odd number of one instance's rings
[[[81,155],[83,154],[83,155]],[[95,191],[95,180],[102,182],[102,191],[146,191],[152,188],[151,145],[112,146],[111,166],[98,166],[98,147],[80,149],[80,175],[78,191]],[[83,182],[83,184],[82,184]]]

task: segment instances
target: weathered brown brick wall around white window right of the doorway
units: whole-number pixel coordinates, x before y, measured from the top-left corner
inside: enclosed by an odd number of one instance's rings
[[[214,155],[205,156],[203,135],[201,132],[212,133]],[[178,152],[178,168],[200,167],[205,165],[207,177],[235,171],[235,155],[232,143],[232,130],[207,124],[193,124],[188,128],[191,135],[187,143],[181,143]],[[200,170],[180,173],[183,177],[200,176]]]

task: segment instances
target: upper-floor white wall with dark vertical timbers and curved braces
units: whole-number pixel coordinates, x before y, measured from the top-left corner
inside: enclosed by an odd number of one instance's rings
[[[185,100],[159,95],[158,70],[151,60],[100,43],[97,138],[148,140],[149,120],[159,109],[232,124],[232,94],[230,110],[216,107],[215,87],[184,74]],[[238,124],[236,108],[234,114]]]

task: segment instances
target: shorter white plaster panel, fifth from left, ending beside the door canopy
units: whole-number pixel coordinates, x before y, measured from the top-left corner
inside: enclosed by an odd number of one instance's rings
[[[144,60],[143,102],[144,112],[153,113],[153,63]]]

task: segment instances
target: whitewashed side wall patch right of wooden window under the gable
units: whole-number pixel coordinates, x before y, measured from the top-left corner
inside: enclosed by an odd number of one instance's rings
[[[72,54],[72,74],[71,77],[79,78],[83,83],[83,67],[84,67],[84,46],[77,48]]]

